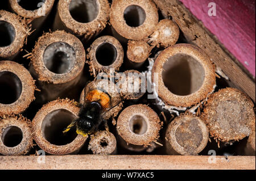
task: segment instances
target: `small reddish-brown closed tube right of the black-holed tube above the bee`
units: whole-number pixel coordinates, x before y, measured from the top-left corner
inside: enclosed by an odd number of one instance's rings
[[[150,56],[151,47],[146,41],[128,41],[127,58],[129,60],[129,66],[134,68],[141,67],[147,58]]]

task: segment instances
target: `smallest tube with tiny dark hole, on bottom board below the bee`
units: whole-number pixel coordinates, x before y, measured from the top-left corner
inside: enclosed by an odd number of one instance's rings
[[[88,149],[93,154],[116,154],[117,140],[109,131],[98,131],[90,138]]]

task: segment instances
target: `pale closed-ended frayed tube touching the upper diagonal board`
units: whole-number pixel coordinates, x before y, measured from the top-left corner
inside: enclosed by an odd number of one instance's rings
[[[149,42],[153,47],[164,48],[175,45],[179,39],[180,30],[176,23],[170,19],[160,20],[156,30],[150,35]]]

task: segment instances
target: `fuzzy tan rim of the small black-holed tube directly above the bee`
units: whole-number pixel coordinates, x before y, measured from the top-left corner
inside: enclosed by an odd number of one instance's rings
[[[96,58],[97,48],[100,47],[102,44],[109,43],[114,46],[117,50],[117,55],[114,62],[109,66],[101,65]],[[94,77],[96,77],[97,73],[100,71],[104,71],[105,73],[109,73],[109,69],[114,69],[116,71],[119,70],[120,66],[123,64],[123,47],[121,43],[113,36],[101,36],[96,39],[90,48],[88,49],[88,56],[89,59],[88,64],[90,71],[93,73]]]

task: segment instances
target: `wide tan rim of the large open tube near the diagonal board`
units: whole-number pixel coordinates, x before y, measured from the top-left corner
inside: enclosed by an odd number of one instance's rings
[[[163,65],[167,62],[168,58],[175,54],[185,54],[195,58],[205,71],[205,78],[203,85],[200,89],[192,94],[180,96],[173,94],[164,85],[163,82]],[[203,50],[197,48],[195,45],[190,44],[176,44],[163,50],[156,58],[152,69],[152,80],[154,80],[154,73],[158,73],[158,95],[167,104],[177,107],[189,107],[193,104],[199,103],[200,100],[207,98],[207,95],[213,91],[216,85],[215,66],[209,60]],[[155,82],[154,82],[155,83]],[[156,83],[155,83],[156,84]],[[157,85],[157,84],[156,84]],[[157,90],[156,90],[157,91]]]

